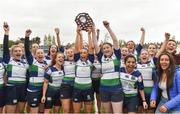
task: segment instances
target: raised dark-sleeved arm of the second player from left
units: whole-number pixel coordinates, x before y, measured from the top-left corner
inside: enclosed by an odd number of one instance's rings
[[[31,34],[31,30],[27,29],[25,32],[25,42],[24,42],[24,46],[25,46],[25,55],[26,55],[26,59],[28,64],[32,64],[33,63],[33,56],[29,50],[29,36]]]

